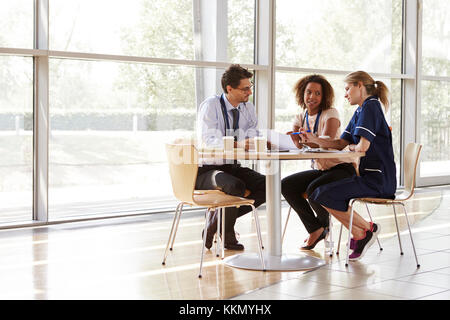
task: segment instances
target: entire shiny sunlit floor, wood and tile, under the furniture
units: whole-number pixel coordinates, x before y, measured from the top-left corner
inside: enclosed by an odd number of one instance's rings
[[[420,269],[403,215],[400,256],[392,208],[371,212],[381,224],[384,250],[375,244],[348,268],[343,240],[340,256],[325,255],[323,244],[311,251],[327,265],[307,272],[230,268],[207,251],[202,279],[197,277],[202,214],[181,219],[165,266],[172,214],[0,230],[0,299],[449,299],[450,187],[422,189],[408,203]],[[265,212],[259,213],[266,230]],[[339,224],[334,225],[337,240]],[[246,250],[256,252],[250,215],[239,219],[236,229]],[[292,214],[283,252],[298,253],[306,236]]]

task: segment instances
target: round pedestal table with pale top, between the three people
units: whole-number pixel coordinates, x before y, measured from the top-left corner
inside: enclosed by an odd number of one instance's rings
[[[199,157],[208,160],[264,160],[266,169],[266,208],[268,248],[264,250],[265,270],[296,271],[310,270],[325,265],[325,261],[307,254],[283,254],[281,241],[281,160],[309,160],[332,158],[360,158],[364,152],[336,151],[336,152],[246,152],[235,149],[233,152],[223,150],[203,150]],[[257,253],[240,253],[224,260],[231,267],[262,270]]]

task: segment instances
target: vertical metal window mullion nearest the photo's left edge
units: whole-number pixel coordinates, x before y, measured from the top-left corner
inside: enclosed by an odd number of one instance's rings
[[[34,49],[48,50],[48,2],[34,6]],[[33,56],[33,220],[48,221],[49,58]]]

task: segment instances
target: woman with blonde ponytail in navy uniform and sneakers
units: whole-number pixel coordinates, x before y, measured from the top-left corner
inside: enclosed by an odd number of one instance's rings
[[[310,133],[302,134],[305,141],[324,148],[365,152],[360,159],[359,174],[317,188],[310,198],[320,203],[347,229],[350,222],[350,199],[395,198],[397,187],[392,134],[386,122],[385,111],[389,107],[388,88],[375,81],[367,72],[356,71],[347,75],[345,98],[351,105],[358,105],[347,128],[339,139],[320,139]],[[381,103],[380,103],[381,102]],[[350,248],[350,260],[359,260],[373,244],[380,232],[379,224],[366,221],[354,211]]]

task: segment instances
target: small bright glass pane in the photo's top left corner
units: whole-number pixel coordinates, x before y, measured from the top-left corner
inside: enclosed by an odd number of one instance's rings
[[[0,47],[33,48],[33,4],[30,0],[0,0]]]

